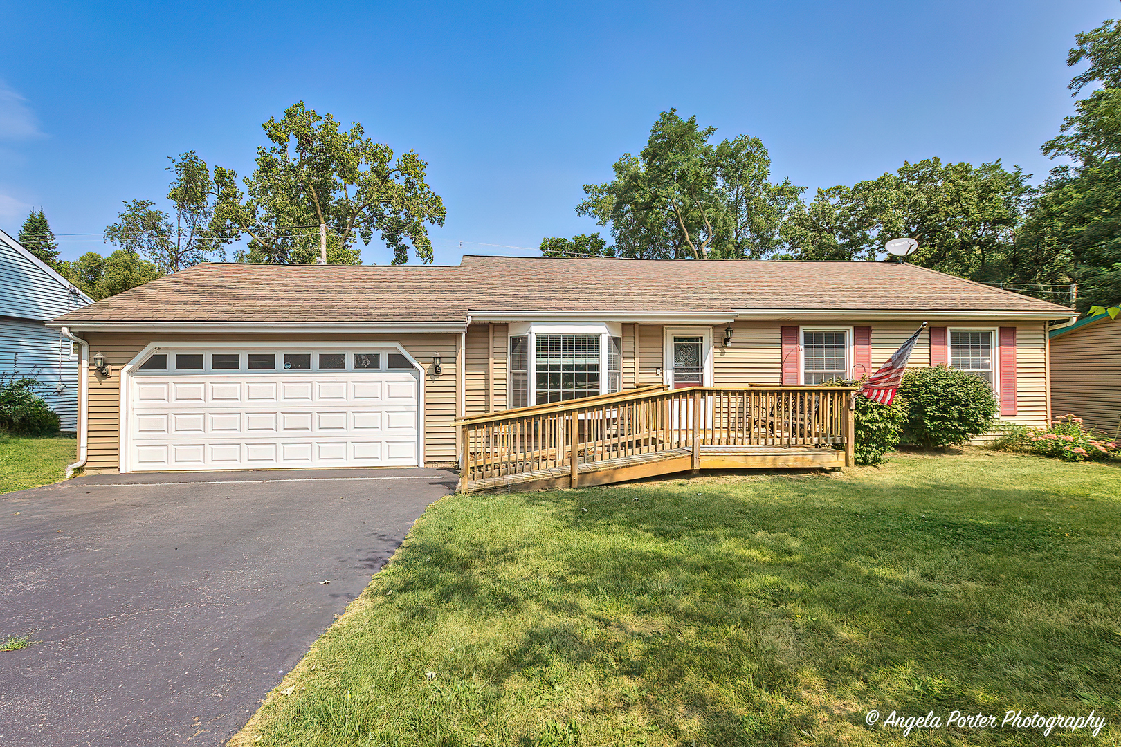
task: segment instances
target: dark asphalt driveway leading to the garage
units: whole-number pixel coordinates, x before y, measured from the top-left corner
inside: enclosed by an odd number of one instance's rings
[[[217,745],[455,477],[99,475],[0,496],[0,745]],[[323,583],[322,581],[330,581]]]

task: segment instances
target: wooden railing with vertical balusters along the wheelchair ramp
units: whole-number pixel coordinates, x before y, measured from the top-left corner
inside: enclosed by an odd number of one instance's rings
[[[473,415],[460,428],[460,489],[492,477],[703,446],[832,447],[852,465],[854,390],[656,385]]]

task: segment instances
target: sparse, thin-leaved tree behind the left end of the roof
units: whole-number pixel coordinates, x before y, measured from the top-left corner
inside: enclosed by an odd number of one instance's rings
[[[148,258],[164,272],[178,272],[223,256],[222,245],[230,235],[214,220],[217,192],[206,161],[193,150],[169,160],[168,170],[175,174],[167,190],[172,213],[149,199],[128,200],[117,223],[105,227],[104,236],[106,242]]]

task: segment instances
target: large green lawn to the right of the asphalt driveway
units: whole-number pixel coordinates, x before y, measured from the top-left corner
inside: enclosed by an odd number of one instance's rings
[[[980,450],[450,496],[232,744],[1118,744],[1119,526],[1115,464]]]

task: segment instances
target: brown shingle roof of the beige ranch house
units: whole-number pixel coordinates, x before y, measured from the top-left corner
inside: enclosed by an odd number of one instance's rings
[[[458,267],[198,264],[63,321],[462,321],[485,311],[1069,310],[914,264],[464,256]]]

